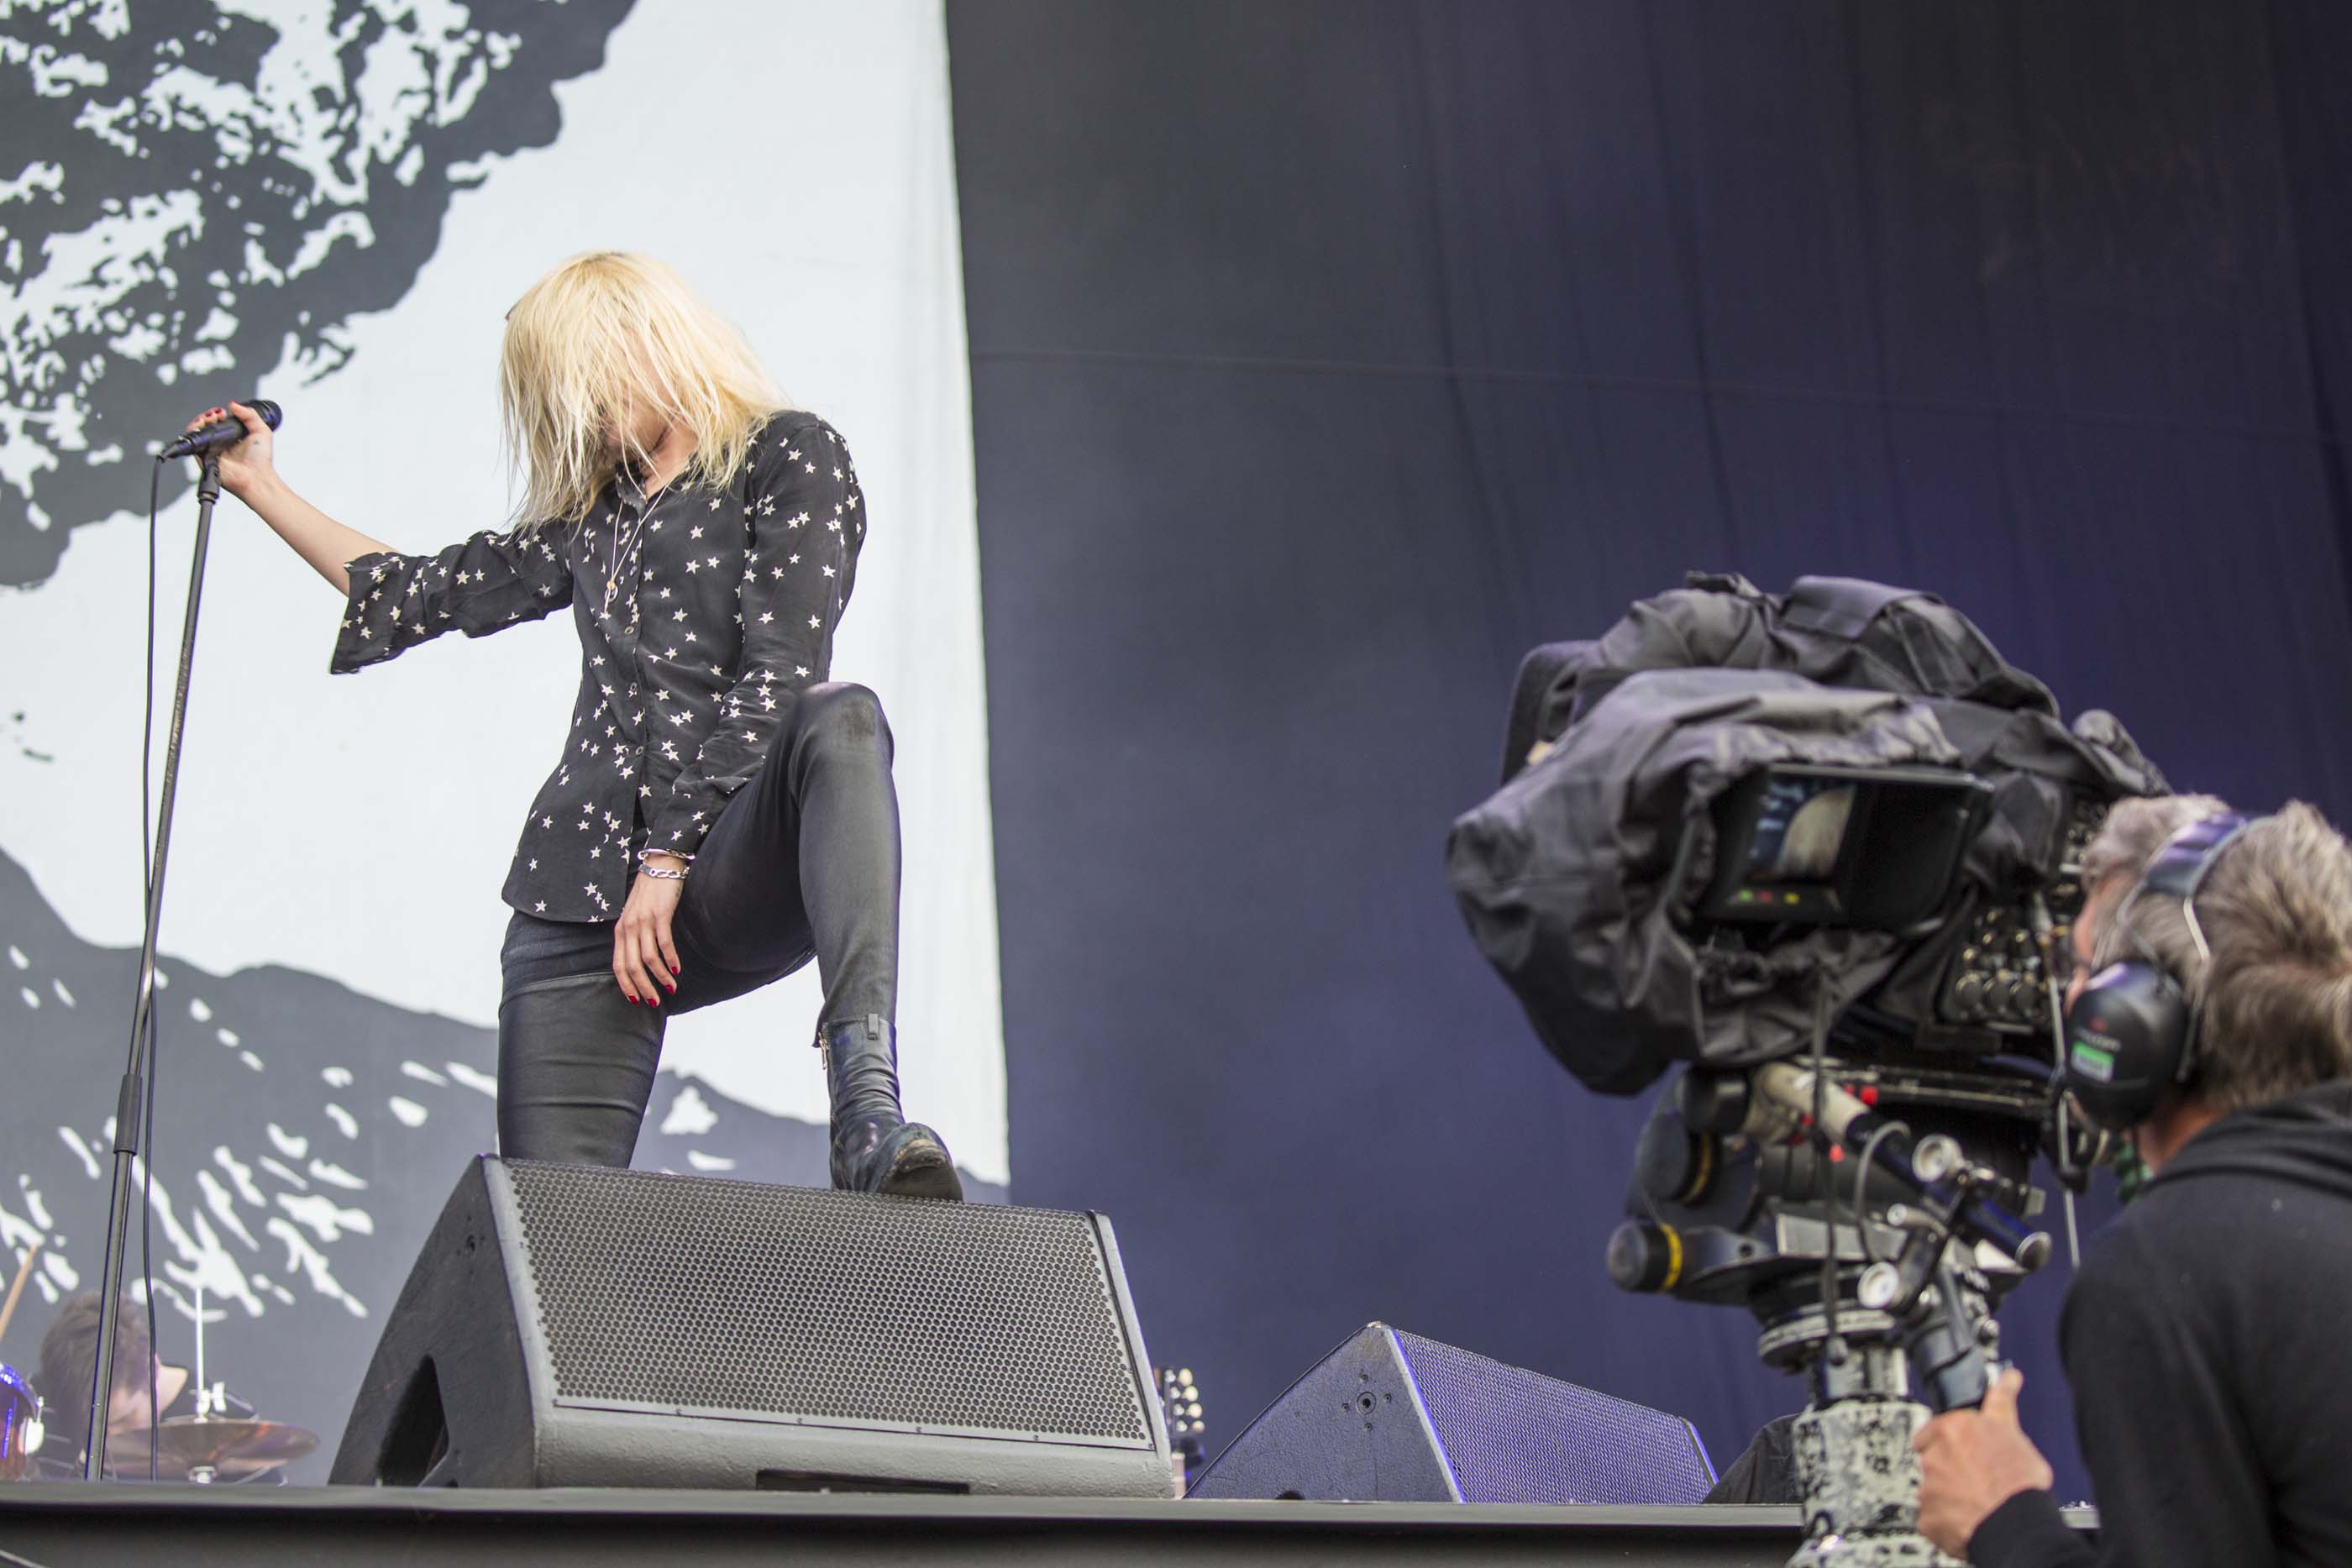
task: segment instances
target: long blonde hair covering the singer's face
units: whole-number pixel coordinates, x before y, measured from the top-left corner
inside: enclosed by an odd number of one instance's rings
[[[652,256],[583,252],[534,282],[506,315],[499,407],[508,463],[522,470],[524,531],[579,522],[612,477],[604,430],[626,456],[637,411],[694,430],[684,480],[727,484],[750,437],[793,407],[743,334]]]

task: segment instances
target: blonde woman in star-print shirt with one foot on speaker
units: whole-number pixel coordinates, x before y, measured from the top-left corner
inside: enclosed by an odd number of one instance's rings
[[[889,724],[826,679],[866,538],[849,449],[647,256],[557,266],[501,357],[524,475],[506,531],[400,555],[296,496],[242,404],[221,458],[221,487],[343,592],[336,672],[560,609],[579,628],[572,731],[506,875],[501,1152],[626,1166],[663,1020],[814,957],[833,1185],[962,1197],[898,1110]]]

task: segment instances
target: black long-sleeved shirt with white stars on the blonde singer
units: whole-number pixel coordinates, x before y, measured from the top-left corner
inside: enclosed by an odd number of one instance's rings
[[[522,825],[506,903],[619,919],[640,853],[691,858],[767,759],[790,698],[826,679],[858,571],[866,501],[826,421],[776,414],[724,487],[652,501],[616,477],[576,524],[475,534],[440,555],[362,555],[336,675],[564,604],[581,693],[562,762]]]

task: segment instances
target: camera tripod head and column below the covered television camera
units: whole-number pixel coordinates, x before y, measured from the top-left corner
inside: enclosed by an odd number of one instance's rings
[[[1929,1408],[1983,1401],[1992,1305],[2051,1255],[2006,1206],[2027,1192],[2039,1093],[1983,1070],[1816,1056],[1691,1072],[1644,1133],[1649,1218],[1611,1237],[1609,1272],[1750,1309],[1762,1361],[1806,1380],[1792,1568],[1950,1563],[1917,1530],[1910,1441]],[[1919,1135],[1893,1105],[1952,1131]]]

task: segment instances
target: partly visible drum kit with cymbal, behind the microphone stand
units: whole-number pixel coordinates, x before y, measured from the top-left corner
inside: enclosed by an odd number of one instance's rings
[[[33,1267],[33,1255],[40,1253],[40,1244],[24,1255],[16,1269],[16,1281],[9,1286],[7,1302],[0,1305],[0,1333],[7,1331],[7,1319],[16,1309],[16,1293],[24,1291],[24,1276]],[[167,1415],[151,1432],[139,1427],[134,1432],[113,1432],[106,1439],[106,1474],[118,1481],[146,1481],[148,1479],[148,1453],[155,1455],[153,1479],[158,1481],[193,1481],[195,1486],[214,1483],[268,1483],[282,1465],[313,1453],[318,1448],[318,1432],[306,1432],[303,1427],[292,1427],[275,1420],[245,1420],[235,1415],[207,1415],[205,1408],[214,1401],[202,1394],[202,1366],[205,1366],[205,1314],[202,1298],[198,1298],[198,1415]],[[68,1396],[73,1389],[68,1389]],[[80,1481],[82,1479],[82,1455],[78,1453],[45,1453],[42,1399],[33,1392],[33,1385],[0,1361],[0,1483],[5,1481]]]

